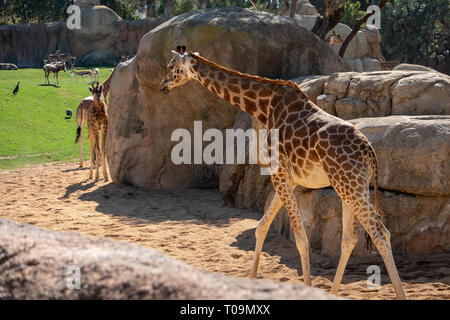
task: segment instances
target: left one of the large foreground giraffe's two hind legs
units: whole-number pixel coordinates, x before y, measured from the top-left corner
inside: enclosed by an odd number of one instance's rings
[[[358,223],[349,206],[342,201],[342,241],[341,241],[341,257],[339,258],[339,265],[334,276],[332,294],[337,294],[339,286],[344,276],[345,267],[348,259],[352,254],[353,249],[358,242]]]

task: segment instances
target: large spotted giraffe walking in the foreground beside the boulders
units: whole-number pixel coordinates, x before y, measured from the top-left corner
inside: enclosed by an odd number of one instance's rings
[[[372,208],[369,182],[375,178],[377,159],[368,139],[351,123],[317,107],[292,81],[272,80],[219,66],[179,46],[161,82],[168,93],[191,79],[218,97],[279,131],[279,169],[272,173],[273,198],[256,228],[255,256],[250,276],[256,277],[263,242],[282,205],[289,215],[300,253],[304,282],[311,285],[309,243],[294,195],[294,188],[333,186],[342,199],[341,257],[331,292],[337,294],[347,261],[358,238],[359,221],[370,235],[387,267],[397,297],[405,299],[392,256],[390,233]],[[270,146],[270,136],[268,144]],[[269,147],[270,148],[270,147]],[[356,219],[355,219],[356,217]]]

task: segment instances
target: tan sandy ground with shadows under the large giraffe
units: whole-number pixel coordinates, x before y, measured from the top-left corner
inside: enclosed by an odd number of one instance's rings
[[[94,183],[78,163],[0,171],[0,216],[57,231],[137,243],[199,269],[247,277],[260,215],[224,207],[218,190],[145,190]],[[396,257],[410,299],[450,299],[450,254]],[[311,255],[312,284],[329,291],[338,258]],[[366,269],[382,266],[382,286],[369,290]],[[258,278],[302,283],[293,243],[270,231]],[[341,295],[393,299],[382,260],[350,258]]]

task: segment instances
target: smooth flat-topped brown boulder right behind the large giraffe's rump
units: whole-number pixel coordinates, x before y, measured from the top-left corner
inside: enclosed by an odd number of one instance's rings
[[[375,148],[381,188],[450,196],[450,116],[392,116],[350,122]]]

